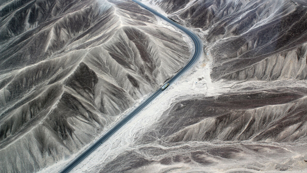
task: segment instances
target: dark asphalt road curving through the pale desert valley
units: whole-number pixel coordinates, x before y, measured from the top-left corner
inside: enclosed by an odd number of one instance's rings
[[[133,2],[138,3],[138,5],[144,7],[151,13],[157,15],[158,17],[162,18],[163,20],[166,20],[170,24],[174,25],[175,27],[179,28],[183,32],[185,32],[191,39],[193,40],[195,44],[195,52],[192,57],[192,59],[188,62],[188,64],[185,65],[176,75],[174,75],[167,83],[171,85],[179,76],[181,76],[188,68],[190,68],[200,57],[202,53],[202,43],[200,39],[193,34],[191,31],[186,29],[185,27],[175,23],[174,21],[170,20],[169,18],[163,16],[162,14],[156,12],[155,10],[145,6],[141,2],[138,2],[136,0],[132,0]],[[167,90],[167,88],[165,88]],[[154,98],[156,98],[159,94],[161,94],[164,90],[161,90],[159,88],[157,91],[155,91],[149,98],[147,98],[144,102],[142,102],[134,111],[130,112],[124,119],[120,120],[119,123],[117,123],[113,128],[111,128],[109,131],[107,131],[106,134],[104,134],[97,142],[95,142],[93,145],[91,145],[88,149],[86,149],[83,153],[81,153],[75,160],[72,160],[60,173],[67,173],[72,168],[74,168],[77,164],[79,164],[85,157],[87,157],[90,153],[92,153],[99,145],[101,145],[102,142],[106,141],[112,134],[114,134],[120,127],[122,127],[127,121],[129,121],[133,116],[135,116],[138,112],[140,112],[148,103],[150,103]]]

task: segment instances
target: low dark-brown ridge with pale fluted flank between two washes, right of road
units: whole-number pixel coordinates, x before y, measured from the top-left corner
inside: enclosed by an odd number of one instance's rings
[[[168,116],[158,121],[161,126],[149,132],[146,139],[153,136],[169,142],[305,141],[304,96],[290,91],[266,91],[179,101],[165,111]],[[283,134],[285,131],[289,132]]]

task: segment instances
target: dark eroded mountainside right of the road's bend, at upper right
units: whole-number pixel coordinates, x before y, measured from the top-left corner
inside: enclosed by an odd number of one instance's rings
[[[203,31],[215,60],[214,80],[306,79],[307,4],[303,1],[148,2]]]

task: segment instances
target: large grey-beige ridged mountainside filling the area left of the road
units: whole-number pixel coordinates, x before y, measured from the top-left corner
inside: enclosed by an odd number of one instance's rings
[[[0,15],[0,172],[68,159],[190,56],[126,0],[12,0]]]

